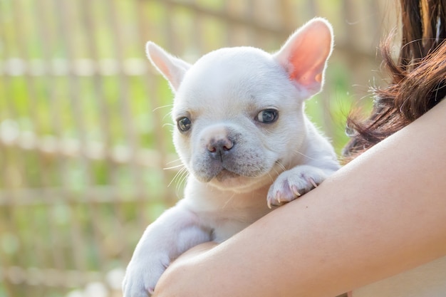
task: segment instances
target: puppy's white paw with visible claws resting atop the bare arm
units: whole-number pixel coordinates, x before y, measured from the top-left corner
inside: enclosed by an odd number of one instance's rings
[[[269,188],[266,199],[268,207],[277,207],[293,201],[317,187],[323,179],[326,179],[326,173],[309,165],[297,166],[282,172]]]

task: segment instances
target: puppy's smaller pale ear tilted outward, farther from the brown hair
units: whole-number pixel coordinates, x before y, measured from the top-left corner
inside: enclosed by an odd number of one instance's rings
[[[147,42],[145,52],[153,66],[169,81],[172,90],[178,90],[190,64],[170,55],[152,41]]]

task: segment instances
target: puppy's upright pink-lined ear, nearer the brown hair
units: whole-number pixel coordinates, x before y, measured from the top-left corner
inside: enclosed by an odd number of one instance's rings
[[[274,58],[290,80],[310,97],[323,85],[326,61],[333,48],[333,29],[325,19],[315,18],[294,32]]]

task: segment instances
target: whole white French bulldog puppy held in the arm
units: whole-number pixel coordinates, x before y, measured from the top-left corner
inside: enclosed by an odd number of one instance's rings
[[[123,282],[125,297],[152,294],[170,262],[204,241],[221,242],[338,170],[330,143],[304,114],[333,47],[313,19],[276,53],[222,48],[190,65],[147,43],[175,92],[173,140],[189,177],[185,197],[150,224]]]

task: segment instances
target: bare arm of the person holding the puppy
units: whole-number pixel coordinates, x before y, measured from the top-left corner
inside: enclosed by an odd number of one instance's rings
[[[158,297],[336,296],[446,255],[446,102],[213,249]]]

